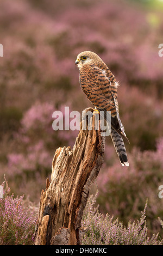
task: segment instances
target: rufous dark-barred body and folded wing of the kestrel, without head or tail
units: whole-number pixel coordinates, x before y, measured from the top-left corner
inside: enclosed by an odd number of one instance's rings
[[[114,86],[116,81],[112,75],[111,83],[108,70],[94,65],[84,65],[80,70],[80,86],[98,111],[104,112],[105,119],[106,112],[111,112],[111,126],[128,141],[118,113],[117,89]]]

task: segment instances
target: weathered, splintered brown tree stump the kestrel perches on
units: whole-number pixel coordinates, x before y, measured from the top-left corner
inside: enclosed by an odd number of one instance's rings
[[[92,108],[85,111],[92,111]],[[82,130],[71,150],[58,148],[52,162],[51,181],[46,181],[39,205],[35,245],[80,245],[79,229],[89,191],[104,161],[105,137],[95,130]],[[99,121],[100,124],[100,121]]]

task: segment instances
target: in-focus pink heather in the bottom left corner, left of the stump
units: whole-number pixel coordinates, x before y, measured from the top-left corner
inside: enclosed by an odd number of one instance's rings
[[[8,182],[2,184],[0,199],[0,245],[33,245],[36,215],[23,203],[23,196],[9,195]]]

